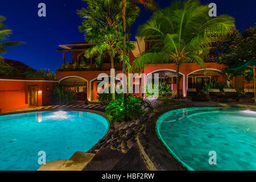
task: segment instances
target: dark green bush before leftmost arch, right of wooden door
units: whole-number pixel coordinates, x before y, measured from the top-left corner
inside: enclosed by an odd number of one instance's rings
[[[76,93],[58,84],[52,89],[50,97],[52,103],[55,105],[70,104],[76,100]]]

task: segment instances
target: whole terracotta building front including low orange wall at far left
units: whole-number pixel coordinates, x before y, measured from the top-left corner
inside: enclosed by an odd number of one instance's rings
[[[133,64],[135,58],[146,50],[148,47],[147,43],[141,38],[136,38],[137,41],[134,42],[136,49],[130,52],[130,64]],[[65,53],[72,53],[72,63],[84,61],[83,53],[90,44],[88,43],[73,43],[67,45],[60,45],[61,49],[57,51],[63,52],[63,63],[65,63]],[[60,63],[61,64],[61,63]],[[90,68],[77,69],[73,68],[72,64],[69,68],[61,68],[57,71],[56,80],[46,80],[45,78],[34,78],[32,79],[22,79],[22,78],[1,78],[0,77],[0,113],[22,109],[29,106],[46,106],[51,105],[51,100],[49,98],[53,86],[58,83],[63,83],[69,78],[73,79],[73,83],[76,80],[80,80],[79,86],[68,86],[73,90],[76,90],[77,94],[82,95],[82,101],[87,98],[89,101],[97,100],[97,87],[98,81],[97,77],[104,73],[106,77],[110,76],[110,63],[105,61],[101,68],[95,68],[94,59],[86,59],[86,65]],[[189,88],[199,88],[203,85],[205,81],[216,79],[223,82],[224,84],[230,84],[225,81],[225,77],[221,75],[221,71],[226,68],[226,65],[211,63],[205,63],[206,69],[200,67],[195,63],[185,63],[180,65],[180,90],[181,95],[186,96],[187,89]],[[115,64],[115,77],[118,73],[122,73],[122,64]],[[176,65],[175,64],[150,64],[143,68],[142,73],[146,78],[153,74],[159,73],[164,75],[164,79],[170,81],[172,90],[177,90],[176,86]],[[139,73],[141,74],[141,73]],[[167,75],[167,77],[166,77]],[[169,75],[169,76],[168,76]],[[102,77],[102,76],[101,76]],[[116,79],[119,80],[119,79]],[[117,82],[117,81],[116,81]],[[135,82],[135,80],[134,80]],[[242,83],[241,83],[242,82]],[[142,82],[142,77],[139,77],[139,82],[135,84],[139,85],[140,93],[138,96],[143,96],[142,88],[146,86],[146,81]],[[252,86],[251,82],[244,81],[243,77],[234,78],[231,84],[236,88],[250,88]],[[32,91],[31,91],[32,90]],[[31,94],[32,93],[32,94]],[[31,97],[35,97],[31,100]],[[33,104],[31,104],[33,102]]]

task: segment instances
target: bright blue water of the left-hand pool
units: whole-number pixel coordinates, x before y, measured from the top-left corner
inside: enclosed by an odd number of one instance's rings
[[[0,116],[0,170],[36,170],[39,151],[46,162],[86,152],[108,132],[101,115],[44,111]]]

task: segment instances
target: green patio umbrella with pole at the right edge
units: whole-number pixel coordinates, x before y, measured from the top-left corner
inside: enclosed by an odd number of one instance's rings
[[[253,58],[250,61],[246,61],[243,64],[237,65],[237,67],[229,68],[231,71],[243,71],[245,69],[253,69],[253,82],[254,82],[254,99],[256,99],[256,89],[255,89],[255,68],[256,68],[256,59]]]

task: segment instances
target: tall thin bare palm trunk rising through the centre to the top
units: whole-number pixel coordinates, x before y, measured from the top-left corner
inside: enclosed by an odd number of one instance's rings
[[[125,56],[126,56],[126,0],[123,0],[123,7],[122,7],[122,19],[123,19],[123,75],[126,74],[125,72]],[[126,86],[127,88],[127,85],[126,83],[124,82],[125,79],[123,79],[123,86]],[[123,104],[125,106],[125,109],[124,109],[124,119],[126,120],[127,119],[127,114],[126,114],[126,104],[127,104],[127,99],[126,99],[126,93],[123,92]]]

